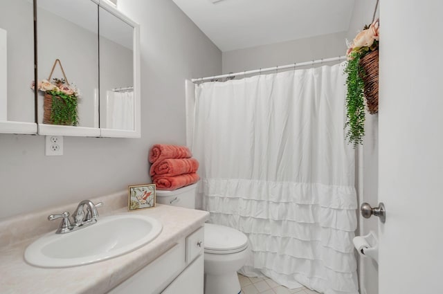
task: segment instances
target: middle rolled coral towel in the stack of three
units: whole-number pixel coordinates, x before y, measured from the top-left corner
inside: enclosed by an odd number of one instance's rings
[[[199,162],[195,158],[168,158],[151,166],[151,176],[179,176],[197,172]]]

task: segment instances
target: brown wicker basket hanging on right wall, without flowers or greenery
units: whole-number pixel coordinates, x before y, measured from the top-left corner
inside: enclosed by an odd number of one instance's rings
[[[363,93],[366,99],[368,111],[371,114],[379,112],[379,50],[363,56],[359,61],[360,66],[365,70],[365,75],[361,76],[364,83]]]

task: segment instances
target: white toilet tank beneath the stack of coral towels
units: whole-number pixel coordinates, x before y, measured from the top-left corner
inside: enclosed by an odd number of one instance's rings
[[[196,192],[197,183],[173,191],[156,190],[156,202],[195,209]]]

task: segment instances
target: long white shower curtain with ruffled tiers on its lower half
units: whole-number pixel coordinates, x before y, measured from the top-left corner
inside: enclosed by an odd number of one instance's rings
[[[204,208],[248,236],[246,275],[358,293],[344,84],[337,64],[200,84],[187,102]]]

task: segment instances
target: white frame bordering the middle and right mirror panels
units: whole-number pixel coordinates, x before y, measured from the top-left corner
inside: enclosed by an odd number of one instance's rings
[[[133,58],[132,71],[133,71],[133,80],[134,80],[134,130],[105,129],[105,128],[94,128],[94,127],[72,127],[72,126],[46,125],[43,123],[37,123],[37,134],[44,136],[141,138],[140,26],[136,24],[136,22],[132,21],[132,19],[129,19],[129,17],[127,17],[126,15],[123,15],[123,13],[117,10],[117,8],[111,6],[109,3],[106,3],[105,1],[100,1],[100,0],[89,0],[89,1],[96,3],[98,7],[107,10],[107,12],[111,13],[111,15],[114,15],[118,19],[124,21],[129,26],[132,26],[133,28],[132,42],[134,50],[132,55]],[[35,10],[37,10],[37,6],[35,6]],[[35,14],[37,14],[36,11]],[[35,21],[36,19],[37,17],[35,17]],[[100,24],[98,29],[100,33]],[[35,36],[35,40],[38,40],[37,35]],[[35,44],[37,44],[37,42],[35,42]],[[37,48],[35,50],[37,50]],[[37,56],[35,58],[37,59]],[[37,77],[37,73],[35,75]],[[37,104],[35,105],[35,108],[37,109]],[[98,115],[100,116],[100,113],[98,113]]]

